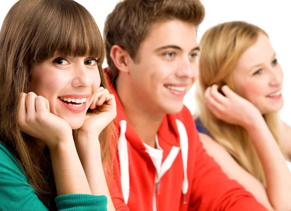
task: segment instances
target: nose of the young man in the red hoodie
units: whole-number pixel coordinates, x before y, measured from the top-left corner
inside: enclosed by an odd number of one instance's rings
[[[198,65],[196,61],[191,61],[188,56],[181,59],[177,69],[177,77],[196,80],[198,77]]]

